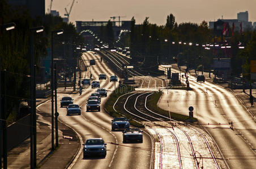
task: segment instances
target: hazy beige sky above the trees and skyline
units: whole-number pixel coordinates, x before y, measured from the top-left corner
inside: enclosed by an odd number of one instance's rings
[[[62,17],[69,11],[72,0],[53,0],[52,10]],[[50,0],[45,0],[48,11]],[[203,20],[237,19],[238,12],[249,12],[249,21],[256,22],[256,0],[75,0],[70,21],[107,21],[110,16],[135,17],[140,24],[146,17],[150,23],[164,25],[167,15],[173,14],[178,24],[201,23]],[[116,19],[118,20],[118,19]]]

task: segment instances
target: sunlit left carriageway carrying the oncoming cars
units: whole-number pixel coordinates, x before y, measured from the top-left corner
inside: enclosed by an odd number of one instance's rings
[[[86,52],[83,54],[84,61],[89,63],[89,59],[99,59],[99,56],[93,55],[93,52]],[[87,63],[87,65],[88,65]],[[113,75],[111,69],[103,62],[96,60],[96,65],[91,66],[93,78],[98,79],[100,73],[105,73],[108,77],[106,80],[100,80],[101,87],[108,90],[108,97],[110,92],[114,90],[114,82],[109,82],[110,75]],[[84,77],[85,72],[82,72]],[[100,112],[86,112],[86,100],[92,92],[96,89],[88,87],[83,90],[82,95],[70,95],[74,99],[75,104],[82,106],[82,115],[66,115],[66,108],[60,108],[58,102],[59,120],[72,127],[78,134],[82,142],[93,137],[102,137],[107,143],[107,155],[105,158],[86,158],[83,159],[82,148],[71,164],[70,168],[150,168],[151,161],[151,137],[144,132],[142,144],[123,144],[122,132],[111,131],[110,117],[104,112],[103,105],[106,98],[101,99]],[[67,94],[58,94],[58,100]],[[40,106],[40,110],[50,113],[50,101]]]

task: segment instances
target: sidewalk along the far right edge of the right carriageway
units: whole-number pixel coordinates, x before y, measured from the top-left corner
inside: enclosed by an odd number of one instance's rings
[[[179,70],[177,64],[172,64],[172,68]],[[186,66],[185,66],[185,68],[186,68]],[[185,72],[185,68],[184,69],[181,68],[181,71]],[[189,70],[189,73],[191,75],[197,77],[197,74],[195,74],[194,69]],[[202,72],[199,71],[198,74],[202,74]],[[209,77],[208,72],[203,72],[203,75],[204,75],[207,82],[214,83],[213,82],[214,81],[214,74],[213,73],[211,73],[211,77]],[[222,86],[226,90],[233,92],[233,94],[238,97],[238,99],[245,106],[245,108],[248,110],[248,112],[253,116],[254,120],[256,120],[256,90],[251,90],[251,94],[254,97],[254,105],[255,105],[255,106],[251,106],[251,104],[250,104],[250,95],[249,95],[250,90],[249,89],[246,89],[245,93],[244,93],[244,92],[242,92],[242,89],[231,90],[231,88],[228,88],[228,83],[214,83],[214,84]]]

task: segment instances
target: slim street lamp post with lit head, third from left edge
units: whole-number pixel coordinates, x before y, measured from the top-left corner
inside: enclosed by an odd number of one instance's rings
[[[51,74],[51,90],[52,90],[52,151],[54,150],[54,97],[53,97],[53,91],[54,91],[54,81],[53,81],[53,35],[54,34],[62,34],[63,33],[63,29],[59,29],[59,30],[54,30],[52,31],[51,33],[51,38],[52,38],[52,52],[51,52],[51,55],[52,55],[52,64],[51,64],[51,71],[50,71],[50,74]]]

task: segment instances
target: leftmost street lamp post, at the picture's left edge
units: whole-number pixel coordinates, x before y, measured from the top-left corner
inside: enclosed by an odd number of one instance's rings
[[[8,23],[8,24],[3,24],[0,26],[1,32],[3,29],[6,31],[15,29],[16,24],[15,23]],[[4,72],[4,78],[5,78],[6,71]],[[1,62],[0,62],[0,79],[1,78]],[[4,87],[6,87],[4,85]],[[5,98],[6,98],[6,90],[5,90]],[[3,99],[5,101],[6,99]],[[5,101],[6,102],[6,101]],[[3,112],[2,112],[2,92],[1,92],[1,82],[0,82],[0,118],[4,119],[3,122],[0,121],[0,145],[1,142],[3,141],[3,168],[7,168],[7,133],[6,133],[6,103],[3,104]],[[3,124],[2,124],[3,123]],[[3,136],[1,137],[1,131],[3,127]],[[2,140],[3,139],[3,140]],[[0,150],[0,168],[2,168],[2,151]]]

